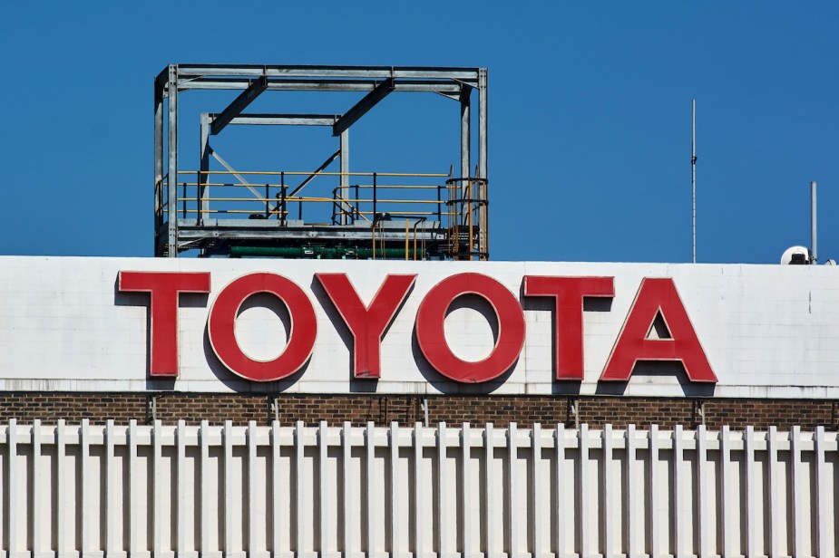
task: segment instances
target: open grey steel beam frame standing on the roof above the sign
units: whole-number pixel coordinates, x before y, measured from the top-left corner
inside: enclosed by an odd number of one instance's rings
[[[178,217],[178,98],[180,93],[190,90],[234,90],[239,96],[221,111],[203,112],[200,116],[200,181],[207,180],[210,166],[210,136],[219,134],[229,125],[305,125],[329,126],[333,136],[339,139],[339,149],[322,168],[340,158],[340,187],[348,188],[349,174],[349,130],[352,125],[392,92],[430,92],[443,95],[460,103],[460,178],[458,181],[479,180],[483,199],[476,199],[472,188],[463,201],[449,202],[453,214],[469,216],[469,226],[474,225],[477,240],[475,244],[458,245],[449,256],[456,259],[487,259],[488,215],[486,200],[487,184],[487,71],[486,68],[445,67],[386,67],[386,66],[313,66],[313,65],[238,65],[238,64],[170,64],[154,80],[154,250],[157,256],[176,257],[181,251],[200,248],[202,254],[207,246],[220,238],[236,239],[238,242],[256,240],[265,245],[276,241],[278,245],[297,237],[317,236],[329,244],[346,241],[347,238],[368,238],[369,228],[359,231],[358,227],[346,223],[333,226],[307,226],[302,221],[287,222],[282,226],[265,226],[265,223],[248,222],[239,219],[205,219],[207,212],[205,198],[200,195],[200,207],[193,219]],[[243,112],[259,95],[268,91],[361,91],[366,95],[340,115],[312,114],[247,114]],[[472,176],[472,93],[477,91],[477,176]],[[166,140],[164,142],[164,134]],[[228,165],[219,157],[221,164]],[[232,168],[229,168],[232,171]],[[318,171],[316,171],[317,174]],[[236,174],[231,172],[231,174]],[[244,180],[241,180],[245,184]],[[464,183],[465,183],[464,182]],[[285,187],[284,187],[285,188]],[[302,188],[302,186],[298,187]],[[165,192],[165,196],[164,196]],[[285,196],[285,190],[283,190]],[[477,204],[477,205],[475,205]],[[475,210],[475,207],[478,210]],[[474,217],[474,218],[473,218]],[[464,217],[465,219],[465,217]],[[473,223],[474,219],[477,219]],[[407,233],[388,224],[384,226],[385,242],[406,241]],[[375,230],[376,224],[374,224]],[[425,234],[424,240],[448,242],[449,234],[442,229]],[[376,233],[374,232],[374,245]]]

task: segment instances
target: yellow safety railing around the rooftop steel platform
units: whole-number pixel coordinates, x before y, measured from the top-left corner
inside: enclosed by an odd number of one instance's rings
[[[283,225],[289,220],[336,226],[364,222],[373,231],[374,254],[382,221],[404,219],[405,230],[411,231],[405,242],[413,237],[414,244],[417,227],[436,222],[445,232],[448,255],[485,259],[486,185],[484,179],[444,173],[182,170],[174,203],[168,196],[168,176],[161,179],[156,195],[161,218],[176,211],[180,219],[194,219],[197,226],[210,216],[276,219]],[[313,195],[306,195],[309,192]],[[415,245],[415,255],[417,248],[422,253],[422,246]]]

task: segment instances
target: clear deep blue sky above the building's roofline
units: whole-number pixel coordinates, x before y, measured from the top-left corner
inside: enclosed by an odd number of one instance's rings
[[[488,67],[492,259],[688,262],[692,98],[698,261],[774,264],[809,245],[810,180],[820,259],[839,259],[839,3],[22,2],[0,14],[0,254],[152,255],[153,77],[168,63],[265,63]],[[372,122],[416,131],[371,142],[376,167],[447,171],[456,103],[393,98]],[[246,147],[312,167],[296,142]]]

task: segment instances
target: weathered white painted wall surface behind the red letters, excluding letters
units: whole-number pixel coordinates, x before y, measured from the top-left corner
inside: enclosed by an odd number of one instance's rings
[[[180,304],[180,379],[147,380],[147,295],[117,293],[121,270],[209,271],[209,296],[184,295]],[[242,380],[210,351],[208,308],[243,274],[287,276],[310,294],[318,320],[317,345],[305,370],[268,384]],[[369,301],[386,274],[417,274],[414,290],[385,334],[379,393],[503,393],[638,396],[839,398],[839,268],[780,265],[579,264],[541,262],[364,262],[327,260],[213,260],[166,258],[0,257],[0,390],[202,392],[367,391],[350,381],[350,336],[322,293],[315,273],[348,274]],[[552,371],[552,312],[548,299],[527,299],[527,336],[521,358],[502,381],[457,384],[430,370],[415,348],[416,311],[445,276],[488,274],[520,293],[524,274],[615,277],[610,304],[585,312],[585,380],[557,382]],[[598,382],[600,372],[643,277],[672,277],[698,338],[717,374],[716,388],[683,385],[681,373],[639,366],[629,384]],[[283,305],[254,297],[241,314],[237,338],[246,351],[269,357],[282,349]],[[273,311],[259,304],[265,302]],[[446,336],[464,358],[479,359],[493,344],[481,304],[460,305]],[[272,341],[273,340],[273,341]],[[678,365],[673,367],[679,370]],[[670,370],[673,371],[673,370]]]

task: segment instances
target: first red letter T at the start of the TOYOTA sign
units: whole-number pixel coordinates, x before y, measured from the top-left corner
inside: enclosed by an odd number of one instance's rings
[[[149,293],[149,374],[178,377],[180,293],[210,293],[209,273],[121,271],[121,293]]]

